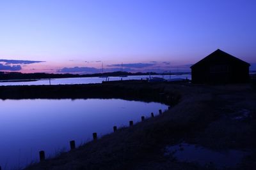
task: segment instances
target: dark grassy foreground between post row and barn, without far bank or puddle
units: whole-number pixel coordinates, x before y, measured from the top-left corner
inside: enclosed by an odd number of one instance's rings
[[[134,89],[138,87],[133,87]],[[179,104],[163,115],[122,128],[27,169],[211,169],[163,156],[166,145],[188,141],[216,150],[250,149],[255,155],[255,90],[250,85],[156,84],[165,95],[179,96]],[[169,96],[172,97],[172,96]],[[154,99],[153,99],[154,100]],[[234,113],[250,110],[250,118],[237,121]],[[235,142],[233,142],[235,141]],[[245,159],[250,168],[255,157]],[[256,161],[255,161],[256,162]]]

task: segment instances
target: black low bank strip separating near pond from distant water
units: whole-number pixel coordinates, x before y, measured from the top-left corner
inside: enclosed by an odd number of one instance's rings
[[[0,99],[122,98],[147,102],[156,101],[168,105],[179,102],[180,94],[166,92],[164,85],[150,84],[140,80],[124,82],[113,81],[111,83],[84,85],[0,86]]]

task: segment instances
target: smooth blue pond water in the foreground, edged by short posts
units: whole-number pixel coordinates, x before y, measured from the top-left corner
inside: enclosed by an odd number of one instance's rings
[[[53,157],[66,148],[113,132],[113,126],[140,122],[168,106],[122,99],[22,99],[0,100],[0,166],[2,169],[24,167],[38,161],[40,150]]]

